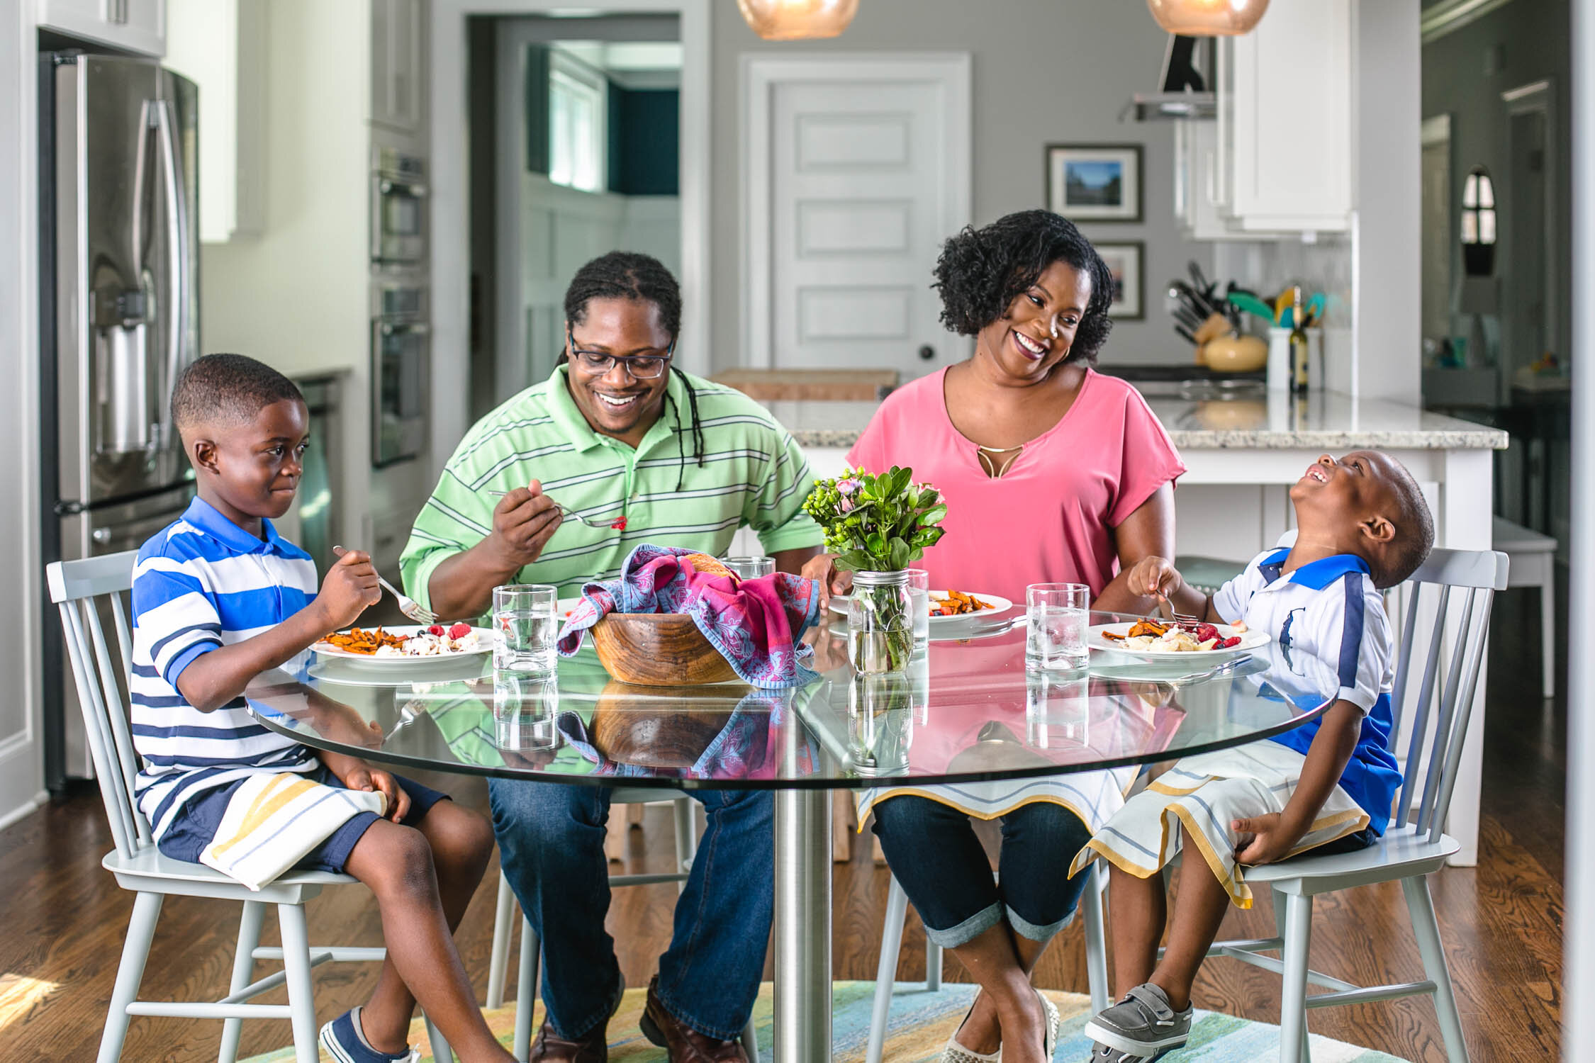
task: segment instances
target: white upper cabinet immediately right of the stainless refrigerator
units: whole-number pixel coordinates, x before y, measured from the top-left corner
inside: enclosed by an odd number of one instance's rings
[[[258,236],[266,212],[266,3],[167,0],[166,65],[199,86],[199,239]]]

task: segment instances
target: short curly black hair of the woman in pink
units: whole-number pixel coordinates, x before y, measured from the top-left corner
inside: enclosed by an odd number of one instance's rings
[[[941,245],[930,285],[941,293],[941,324],[960,336],[976,335],[1006,314],[1054,261],[1091,274],[1091,301],[1065,362],[1096,365],[1113,328],[1107,316],[1113,274],[1075,223],[1051,210],[1018,210],[979,229],[965,226]]]

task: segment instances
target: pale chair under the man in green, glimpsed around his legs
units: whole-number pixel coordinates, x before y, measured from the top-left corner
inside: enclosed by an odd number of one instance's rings
[[[668,798],[668,794],[675,794]],[[676,883],[676,892],[686,889],[687,873],[692,870],[692,856],[697,853],[697,818],[692,810],[694,800],[679,790],[617,787],[609,797],[614,805],[646,805],[670,800],[676,819],[676,870],[648,875],[609,875],[609,886],[651,886],[654,883]],[[488,1007],[504,1006],[504,975],[509,967],[509,936],[515,921],[515,892],[509,886],[509,878],[499,869],[498,907],[493,913],[493,953],[488,961]],[[515,979],[515,1042],[514,1055],[522,1063],[531,1055],[531,1014],[538,999],[538,963],[541,945],[538,932],[531,929],[531,920],[522,915],[520,920],[520,964]],[[753,1028],[753,1020],[742,1030],[742,1049],[748,1053],[748,1063],[759,1063],[759,1039]]]

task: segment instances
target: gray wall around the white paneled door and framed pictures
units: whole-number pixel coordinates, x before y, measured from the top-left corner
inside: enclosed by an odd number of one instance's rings
[[[1105,362],[1177,362],[1191,359],[1163,311],[1161,287],[1204,266],[1206,244],[1179,236],[1174,223],[1174,131],[1166,123],[1118,123],[1132,92],[1158,88],[1168,37],[1136,0],[864,0],[858,18],[836,40],[770,43],[742,21],[737,5],[713,3],[713,188],[724,209],[713,212],[711,351],[716,368],[742,362],[740,217],[732,206],[742,167],[742,56],[834,51],[968,51],[973,54],[976,225],[1010,210],[1046,206],[1046,143],[1144,145],[1144,223],[1081,225],[1091,239],[1145,241],[1144,322],[1118,322],[1102,352]],[[951,236],[951,234],[949,234]],[[925,282],[930,268],[925,263]],[[695,327],[687,322],[687,328]]]

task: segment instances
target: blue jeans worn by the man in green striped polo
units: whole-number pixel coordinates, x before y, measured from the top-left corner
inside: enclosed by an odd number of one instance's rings
[[[614,939],[603,929],[611,794],[600,786],[488,783],[499,859],[542,939],[542,1002],[563,1038],[582,1038],[606,1022],[625,988]],[[775,915],[775,802],[758,790],[687,794],[703,805],[708,827],[676,900],[670,948],[659,958],[659,999],[678,1022],[729,1041],[748,1023],[764,974]]]

